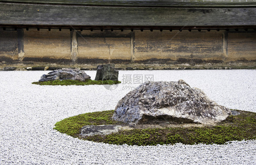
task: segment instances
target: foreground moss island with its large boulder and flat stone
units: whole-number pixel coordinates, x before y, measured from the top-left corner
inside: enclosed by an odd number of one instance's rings
[[[104,126],[117,126],[117,131],[105,134]],[[256,139],[256,113],[220,106],[183,80],[145,82],[123,97],[115,110],[72,116],[58,121],[54,129],[115,145],[225,144]]]

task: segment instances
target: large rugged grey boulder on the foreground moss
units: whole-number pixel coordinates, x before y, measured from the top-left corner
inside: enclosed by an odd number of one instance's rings
[[[215,124],[229,115],[230,109],[179,80],[143,83],[118,102],[112,118],[130,125],[156,118]]]

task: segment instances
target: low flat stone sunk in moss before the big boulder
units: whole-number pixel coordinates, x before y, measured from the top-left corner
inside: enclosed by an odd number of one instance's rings
[[[81,130],[82,136],[108,135],[118,132],[122,126],[117,125],[100,125],[100,126],[83,126]]]

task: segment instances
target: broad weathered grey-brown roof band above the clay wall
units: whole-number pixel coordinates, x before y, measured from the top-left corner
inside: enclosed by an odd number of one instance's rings
[[[255,26],[256,8],[148,8],[0,3],[0,25]]]

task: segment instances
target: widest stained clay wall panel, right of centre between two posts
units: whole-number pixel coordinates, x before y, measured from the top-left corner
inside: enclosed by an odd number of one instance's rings
[[[149,58],[220,59],[222,34],[206,31],[135,32],[135,61]]]

